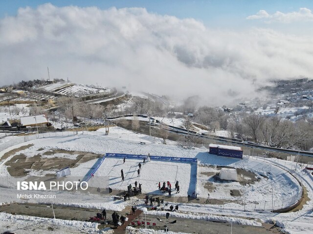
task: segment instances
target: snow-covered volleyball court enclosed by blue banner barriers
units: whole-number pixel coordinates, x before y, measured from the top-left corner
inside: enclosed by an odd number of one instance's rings
[[[97,176],[109,176],[110,188],[127,191],[127,186],[137,181],[142,184],[142,193],[159,194],[158,182],[170,181],[172,188],[175,188],[176,180],[179,180],[179,196],[191,195],[195,190],[196,178],[190,176],[191,168],[196,170],[196,165],[191,163],[150,161],[141,166],[140,176],[137,176],[138,163],[142,164],[140,159],[127,159],[123,164],[123,159],[106,158],[94,179]],[[124,172],[124,181],[121,181],[121,170]],[[173,192],[173,196],[176,194]]]

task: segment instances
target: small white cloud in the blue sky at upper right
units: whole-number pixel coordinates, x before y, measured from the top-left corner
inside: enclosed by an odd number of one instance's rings
[[[276,13],[269,15],[265,10],[260,10],[258,13],[252,16],[248,16],[247,20],[259,20],[263,19],[266,22],[297,22],[297,21],[312,21],[313,14],[308,8],[300,8],[299,11],[293,11],[289,13],[282,13],[277,11]]]

